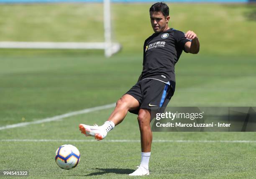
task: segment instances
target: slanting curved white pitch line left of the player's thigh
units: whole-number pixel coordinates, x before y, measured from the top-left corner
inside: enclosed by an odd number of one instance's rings
[[[19,128],[19,127],[23,127],[23,126],[31,125],[31,124],[47,123],[47,122],[51,122],[51,121],[55,121],[55,120],[59,120],[59,119],[63,119],[63,118],[68,118],[70,116],[84,114],[84,113],[90,113],[90,112],[97,111],[97,110],[104,110],[104,109],[108,109],[108,108],[111,108],[111,107],[115,107],[115,103],[108,104],[108,105],[103,105],[103,106],[92,107],[92,108],[87,108],[87,109],[84,109],[84,110],[74,111],[74,112],[66,113],[66,114],[62,114],[62,115],[56,115],[56,116],[51,117],[51,118],[35,120],[35,121],[32,121],[32,122],[5,125],[5,126],[0,127],[0,130],[10,129],[10,128]]]

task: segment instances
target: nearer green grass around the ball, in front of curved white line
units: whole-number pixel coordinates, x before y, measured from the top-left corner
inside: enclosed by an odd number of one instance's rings
[[[1,131],[5,139],[85,138],[77,124],[102,123],[111,110],[78,115],[61,121]],[[106,140],[139,140],[136,116],[128,114]],[[91,139],[91,138],[89,138]],[[154,133],[154,140],[255,140],[255,133]],[[56,148],[64,142],[0,142],[1,169],[23,169],[31,178],[127,178],[140,161],[138,142],[66,142],[76,146],[81,161],[64,171],[54,161]],[[13,154],[10,155],[10,151]],[[153,142],[150,178],[251,178],[255,176],[256,143],[162,143]],[[24,165],[25,164],[25,165]]]

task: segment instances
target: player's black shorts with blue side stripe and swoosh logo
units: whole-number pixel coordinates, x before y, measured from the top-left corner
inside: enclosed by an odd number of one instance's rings
[[[140,107],[129,112],[138,114],[139,109],[146,108],[164,112],[173,95],[172,87],[156,79],[142,79],[126,94],[133,96],[140,103]]]

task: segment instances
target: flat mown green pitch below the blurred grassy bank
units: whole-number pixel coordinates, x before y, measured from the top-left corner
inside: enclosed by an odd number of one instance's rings
[[[169,105],[255,105],[255,62],[253,57],[240,59],[183,56],[177,64],[177,90]],[[115,102],[136,82],[141,58],[122,54],[111,59],[100,55],[4,57],[0,68],[3,126]],[[246,70],[238,74],[241,69]],[[0,139],[87,139],[77,125],[101,124],[112,110],[1,130]],[[154,140],[254,141],[255,137],[255,133],[154,133]],[[128,114],[107,140],[139,138],[136,115]],[[81,161],[76,169],[63,171],[54,162],[54,152],[67,142],[0,143],[0,169],[28,170],[31,178],[126,178],[140,161],[138,142],[68,142],[79,148]],[[256,174],[255,153],[256,143],[156,142],[150,177],[252,178]]]

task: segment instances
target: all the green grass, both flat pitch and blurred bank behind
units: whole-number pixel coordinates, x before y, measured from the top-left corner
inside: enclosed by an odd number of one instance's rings
[[[141,46],[152,33],[149,6],[113,5],[115,36],[123,51],[110,59],[102,51],[1,49],[0,128],[118,100],[142,69]],[[103,33],[100,30],[97,36],[93,27],[102,28],[101,8],[100,4],[0,5],[0,41],[100,41]],[[172,4],[170,9],[172,27],[195,29],[201,51],[182,54],[169,105],[255,106],[256,21],[250,18],[255,6]],[[87,11],[99,14],[88,17]],[[90,19],[98,22],[91,24]],[[112,110],[0,130],[0,170],[28,170],[30,178],[127,178],[140,162],[136,115],[128,114],[103,141],[91,141],[78,130],[79,123],[101,125]],[[256,176],[256,133],[156,132],[153,138],[149,178]],[[79,165],[70,171],[54,161],[56,149],[66,143],[81,153]]]

